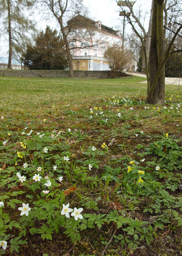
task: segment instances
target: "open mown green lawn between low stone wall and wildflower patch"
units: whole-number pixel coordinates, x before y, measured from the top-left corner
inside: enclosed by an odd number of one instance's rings
[[[20,78],[2,77],[0,83],[1,105],[6,111],[36,111],[48,105],[60,107],[67,105],[89,104],[94,100],[111,96],[146,98],[146,84],[141,77],[123,77],[118,79],[70,79],[70,78]],[[177,90],[177,86],[167,86],[166,93]],[[1,109],[2,112],[2,109]]]

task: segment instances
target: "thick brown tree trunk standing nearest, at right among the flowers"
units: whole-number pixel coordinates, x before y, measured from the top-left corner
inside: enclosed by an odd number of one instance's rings
[[[164,0],[153,1],[152,31],[149,52],[149,82],[147,87],[147,101],[151,104],[164,104],[165,69],[158,69],[164,60],[163,42],[163,10]]]

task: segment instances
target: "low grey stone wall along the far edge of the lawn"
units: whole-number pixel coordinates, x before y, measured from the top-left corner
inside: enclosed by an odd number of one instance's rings
[[[125,73],[117,72],[117,76],[127,76]],[[15,76],[15,77],[69,77],[69,71],[64,70],[0,70],[0,76]],[[74,71],[75,77],[112,77],[111,71]]]

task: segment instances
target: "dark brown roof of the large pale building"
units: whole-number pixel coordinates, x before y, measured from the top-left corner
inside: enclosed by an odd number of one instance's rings
[[[84,17],[82,15],[77,15],[75,17],[73,17],[72,19],[68,20],[67,22],[67,28],[70,28],[70,29],[77,29],[77,28],[89,28],[89,29],[94,29],[94,30],[99,30],[99,31],[103,31],[103,32],[107,32],[107,33],[110,33],[110,34],[113,34],[113,35],[116,35],[118,36],[116,30],[112,29],[112,28],[109,28],[105,25],[102,25],[101,24],[101,29],[98,29],[96,28],[96,24],[97,23],[101,23],[100,21],[99,22],[95,22],[94,20],[90,19],[90,18],[87,18],[87,17]]]

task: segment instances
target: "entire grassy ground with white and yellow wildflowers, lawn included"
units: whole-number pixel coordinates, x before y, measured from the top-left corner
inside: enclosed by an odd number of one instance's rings
[[[180,255],[181,88],[0,78],[0,254]]]

